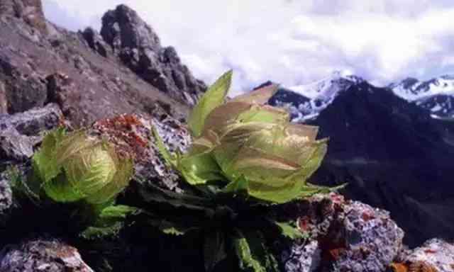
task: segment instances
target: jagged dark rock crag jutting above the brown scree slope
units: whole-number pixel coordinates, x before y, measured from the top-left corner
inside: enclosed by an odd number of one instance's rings
[[[125,5],[102,18],[101,35],[126,66],[161,91],[193,105],[206,89],[182,64],[174,47],[162,47],[153,28]]]

